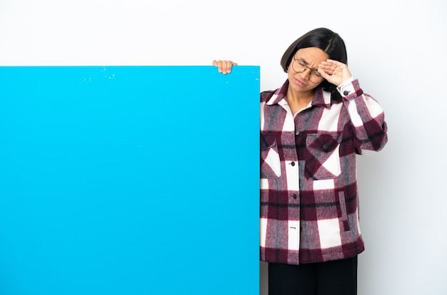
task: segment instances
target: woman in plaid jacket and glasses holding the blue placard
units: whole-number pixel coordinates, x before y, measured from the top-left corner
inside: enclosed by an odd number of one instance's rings
[[[233,61],[213,61],[228,74]],[[357,294],[356,154],[387,142],[383,109],[347,66],[325,28],[294,41],[288,79],[261,93],[261,260],[271,295]]]

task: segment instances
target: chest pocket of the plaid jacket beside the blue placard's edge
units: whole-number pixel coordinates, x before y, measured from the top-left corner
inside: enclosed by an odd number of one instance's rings
[[[261,134],[261,179],[281,176],[281,161],[274,136]]]

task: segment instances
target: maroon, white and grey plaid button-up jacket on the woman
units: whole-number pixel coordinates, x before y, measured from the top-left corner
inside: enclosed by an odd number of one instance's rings
[[[261,93],[261,260],[285,264],[345,259],[364,249],[358,226],[356,154],[387,141],[381,106],[358,80],[317,89],[296,114],[288,81]]]

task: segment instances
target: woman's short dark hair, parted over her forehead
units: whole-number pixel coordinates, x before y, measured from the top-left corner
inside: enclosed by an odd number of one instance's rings
[[[308,31],[288,46],[288,49],[284,52],[283,57],[281,58],[281,66],[283,70],[287,72],[288,65],[291,63],[296,51],[308,47],[317,47],[326,52],[329,59],[348,64],[348,54],[346,53],[345,42],[341,39],[341,36],[330,29],[318,28]],[[336,89],[336,85],[333,85],[326,80],[323,80],[318,87],[322,87],[326,91],[331,92]]]

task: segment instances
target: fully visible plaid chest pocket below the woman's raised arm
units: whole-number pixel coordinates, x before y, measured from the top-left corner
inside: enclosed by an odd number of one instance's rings
[[[307,134],[306,179],[333,179],[341,174],[341,134]]]

